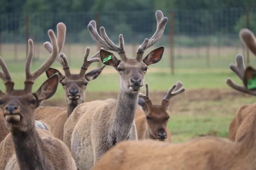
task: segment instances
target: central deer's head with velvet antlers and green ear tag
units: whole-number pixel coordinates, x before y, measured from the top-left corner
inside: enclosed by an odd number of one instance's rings
[[[144,51],[153,46],[163,35],[165,25],[168,21],[163,13],[156,11],[157,27],[156,32],[150,39],[145,39],[137,50],[136,58],[127,58],[124,50],[123,35],[119,35],[119,46],[116,46],[107,36],[104,27],[100,27],[100,34],[96,29],[96,22],[91,21],[88,25],[90,34],[96,44],[107,50],[115,51],[119,54],[117,59],[113,53],[100,50],[100,59],[105,65],[111,65],[119,73],[120,89],[128,93],[137,93],[141,90],[144,82],[144,76],[150,64],[157,63],[161,60],[164,53],[164,47],[161,46],[151,51],[144,59]]]

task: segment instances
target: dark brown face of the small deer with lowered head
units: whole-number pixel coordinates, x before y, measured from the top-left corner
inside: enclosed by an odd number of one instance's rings
[[[165,140],[167,138],[166,127],[169,114],[161,105],[152,105],[145,112],[148,131],[155,139]]]

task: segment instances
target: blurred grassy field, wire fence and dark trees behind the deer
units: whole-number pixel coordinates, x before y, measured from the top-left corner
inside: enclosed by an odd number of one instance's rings
[[[177,80],[186,88],[171,100],[169,108],[173,141],[202,135],[227,137],[229,123],[240,106],[256,101],[225,83],[227,77],[241,83],[229,69],[236,54],[243,54],[246,65],[256,64],[255,56],[239,39],[242,28],[256,33],[255,0],[1,0],[0,55],[12,73],[15,88],[23,88],[26,42],[31,38],[35,43],[35,70],[49,56],[43,47],[49,41],[48,29],[56,30],[57,23],[63,22],[67,34],[62,52],[72,73],[79,73],[85,48],[91,48],[90,56],[99,50],[87,29],[95,20],[97,28],[104,26],[113,42],[118,43],[119,34],[123,34],[127,56],[135,57],[139,45],[156,30],[156,10],[162,10],[168,23],[160,41],[145,55],[158,46],[165,46],[165,52],[159,63],[150,65],[145,82],[156,104]],[[94,63],[89,71],[101,66]],[[52,67],[63,72],[57,61]],[[34,90],[46,78],[41,75]],[[86,101],[116,98],[118,80],[117,72],[105,67],[89,82]],[[4,91],[3,83],[0,89]],[[66,107],[61,86],[44,105]]]

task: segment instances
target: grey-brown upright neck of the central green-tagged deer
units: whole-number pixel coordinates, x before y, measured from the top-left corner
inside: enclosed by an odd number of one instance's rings
[[[126,140],[131,132],[138,95],[139,92],[131,94],[122,90],[118,94],[113,120],[113,138],[115,142]]]

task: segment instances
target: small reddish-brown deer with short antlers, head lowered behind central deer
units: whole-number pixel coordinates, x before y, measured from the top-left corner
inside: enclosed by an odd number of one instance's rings
[[[153,105],[149,98],[148,84],[145,84],[146,94],[139,94],[139,105],[144,113],[136,112],[134,121],[137,129],[138,139],[157,139],[171,142],[171,133],[167,127],[170,118],[167,109],[170,99],[184,92],[182,83],[178,81],[166,94],[164,94],[161,105]]]

